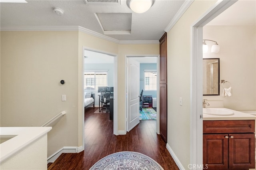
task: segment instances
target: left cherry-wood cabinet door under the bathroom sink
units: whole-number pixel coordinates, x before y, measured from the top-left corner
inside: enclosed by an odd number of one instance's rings
[[[203,134],[203,164],[207,169],[228,169],[228,134]]]

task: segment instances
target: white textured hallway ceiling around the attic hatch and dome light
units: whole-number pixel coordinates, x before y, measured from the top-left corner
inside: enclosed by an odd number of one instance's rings
[[[104,34],[95,13],[131,13],[131,34],[107,35],[116,40],[159,40],[185,0],[156,0],[145,13],[132,12],[121,3],[92,4],[84,0],[27,0],[28,3],[1,3],[1,27],[12,26],[81,26]],[[64,10],[63,16],[52,8]],[[116,18],[118,25],[119,19]],[[113,22],[113,21],[112,21]]]

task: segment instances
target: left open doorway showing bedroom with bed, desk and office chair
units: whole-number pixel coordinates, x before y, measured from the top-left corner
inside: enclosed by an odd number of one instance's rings
[[[112,121],[115,134],[116,119],[116,55],[84,48],[83,57],[83,91],[84,91],[84,118],[86,113],[106,114],[108,121]],[[110,91],[111,95],[106,102],[102,91]],[[92,98],[92,103],[87,103]],[[84,139],[86,140],[86,123]]]

